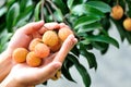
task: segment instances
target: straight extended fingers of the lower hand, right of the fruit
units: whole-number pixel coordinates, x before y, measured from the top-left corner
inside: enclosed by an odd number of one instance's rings
[[[70,52],[70,50],[73,48],[73,46],[76,42],[78,42],[78,39],[74,37],[74,35],[70,35],[63,42],[60,51],[58,52],[53,61],[59,61],[63,63],[67,54]]]

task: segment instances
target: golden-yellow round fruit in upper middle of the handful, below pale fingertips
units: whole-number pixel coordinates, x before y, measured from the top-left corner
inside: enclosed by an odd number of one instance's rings
[[[56,46],[58,44],[58,35],[55,30],[47,30],[44,35],[43,35],[43,41],[44,44],[46,44],[49,47]]]

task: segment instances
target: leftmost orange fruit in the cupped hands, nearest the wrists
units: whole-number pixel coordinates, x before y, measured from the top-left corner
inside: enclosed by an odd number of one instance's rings
[[[16,48],[14,51],[13,51],[13,60],[16,62],[16,63],[22,63],[22,62],[25,62],[26,61],[26,55],[27,55],[28,51],[25,49],[25,48]]]

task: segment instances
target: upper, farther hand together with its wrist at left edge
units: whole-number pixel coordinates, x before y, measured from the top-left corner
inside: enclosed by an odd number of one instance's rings
[[[28,23],[27,25],[19,28],[13,37],[11,38],[7,50],[0,54],[0,82],[4,79],[4,77],[9,74],[15,63],[12,61],[12,52],[16,48],[26,48],[28,47],[29,41],[33,38],[41,37],[44,33],[43,26],[46,26],[49,29],[59,28],[60,25],[58,23],[46,23],[43,21]]]

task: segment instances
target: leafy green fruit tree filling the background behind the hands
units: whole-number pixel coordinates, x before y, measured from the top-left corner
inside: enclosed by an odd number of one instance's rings
[[[118,41],[109,35],[110,22],[116,25],[121,41],[127,39],[131,44],[131,0],[3,0],[2,2],[0,52],[7,48],[13,33],[29,22],[44,20],[46,23],[66,23],[72,28],[79,42],[66,59],[61,69],[62,75],[70,82],[75,82],[69,71],[75,66],[85,87],[90,87],[92,80],[87,69],[97,70],[97,57],[91,50],[97,49],[105,54],[109,45],[119,48]],[[111,14],[115,5],[120,5],[123,10],[118,20]],[[117,12],[117,9],[114,12]],[[126,18],[129,21],[123,23]],[[128,27],[128,30],[124,27]],[[88,67],[80,63],[81,55],[86,59]],[[44,84],[48,85],[48,80]]]

